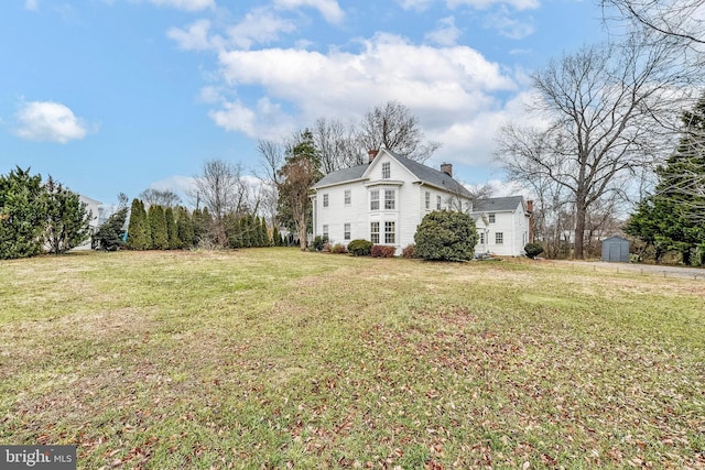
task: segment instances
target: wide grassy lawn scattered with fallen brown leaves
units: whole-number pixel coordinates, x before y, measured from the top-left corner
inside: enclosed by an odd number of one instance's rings
[[[292,249],[0,262],[0,442],[98,468],[705,468],[705,283]]]

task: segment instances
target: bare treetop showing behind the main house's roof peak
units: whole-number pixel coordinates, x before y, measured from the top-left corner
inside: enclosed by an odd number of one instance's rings
[[[409,108],[399,101],[388,101],[365,114],[357,140],[365,151],[384,146],[399,155],[423,163],[441,146],[438,142],[422,143],[423,136],[419,120]]]

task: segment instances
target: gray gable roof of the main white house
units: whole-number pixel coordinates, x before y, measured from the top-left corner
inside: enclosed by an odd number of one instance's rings
[[[414,175],[419,182],[445,189],[449,193],[458,193],[462,196],[470,197],[470,193],[467,190],[467,188],[455,181],[452,176],[448,176],[447,173],[434,170],[430,166],[406,159],[405,156],[398,155],[387,149],[380,150],[380,154],[375,159],[372,164],[377,162],[378,159],[380,159],[382,152],[387,153],[389,156],[399,162],[399,164],[406,168],[412,175]],[[362,179],[370,165],[370,163],[366,163],[365,165],[352,166],[350,168],[344,168],[338,170],[337,172],[328,173],[321,181],[314,184],[313,188],[317,189],[325,186],[333,186],[337,184],[354,182],[356,179]]]

